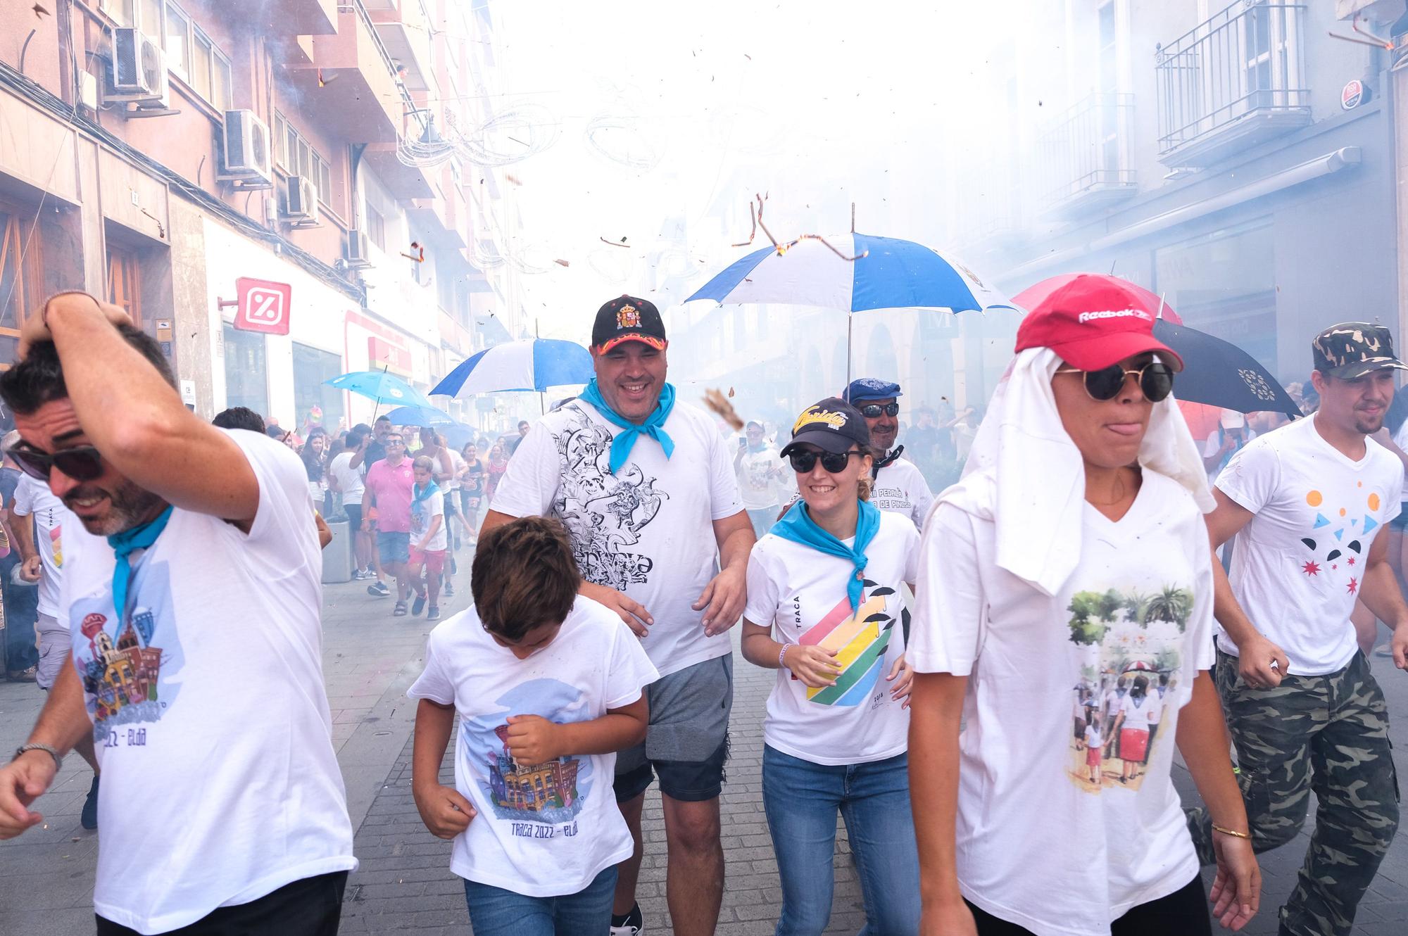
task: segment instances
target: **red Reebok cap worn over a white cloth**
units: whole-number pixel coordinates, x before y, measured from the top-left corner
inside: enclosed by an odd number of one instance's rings
[[[1100,370],[1152,350],[1183,370],[1183,358],[1153,336],[1157,312],[1133,290],[1105,277],[1077,276],[1022,320],[1017,350],[1050,348],[1080,370]]]

